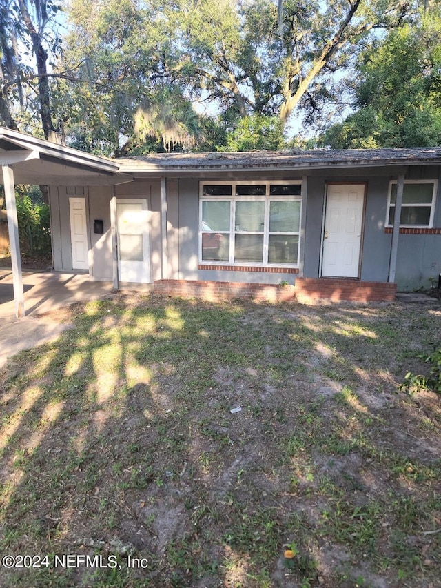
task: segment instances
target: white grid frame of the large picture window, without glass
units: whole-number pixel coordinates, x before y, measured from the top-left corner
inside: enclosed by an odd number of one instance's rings
[[[228,185],[231,186],[232,194],[231,195],[216,195],[210,196],[209,194],[203,194],[204,186],[206,185]],[[236,186],[243,186],[243,185],[265,185],[265,195],[240,195],[236,196]],[[296,195],[286,195],[277,194],[271,195],[270,190],[271,186],[274,185],[298,185],[300,186],[300,194]],[[203,203],[204,202],[213,202],[213,201],[228,201],[229,202],[229,232],[223,230],[202,230],[202,223],[203,223]],[[264,202],[264,225],[263,231],[240,231],[236,230],[236,203],[237,202]],[[270,205],[271,202],[299,202],[300,203],[300,210],[299,210],[299,222],[298,222],[298,231],[270,231],[269,230],[269,221],[270,221]],[[300,236],[302,232],[302,180],[263,180],[263,179],[254,179],[254,180],[203,180],[199,182],[199,216],[198,216],[198,263],[201,265],[225,265],[228,267],[287,267],[287,268],[298,268],[300,265]],[[219,233],[219,234],[228,234],[229,235],[229,258],[227,261],[220,261],[220,260],[209,260],[203,259],[202,257],[202,241],[203,241],[203,233]],[[235,256],[235,241],[236,241],[236,234],[247,234],[247,235],[263,235],[263,255],[262,261],[234,261]],[[297,247],[297,260],[296,262],[269,262],[269,237],[273,235],[289,235],[289,236],[297,236],[298,237],[298,247]]]

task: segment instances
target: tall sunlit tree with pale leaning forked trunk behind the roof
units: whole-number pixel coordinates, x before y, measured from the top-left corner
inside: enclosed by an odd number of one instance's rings
[[[175,0],[167,3],[175,63],[170,71],[203,99],[238,116],[320,108],[327,76],[347,64],[360,40],[399,26],[405,0]]]

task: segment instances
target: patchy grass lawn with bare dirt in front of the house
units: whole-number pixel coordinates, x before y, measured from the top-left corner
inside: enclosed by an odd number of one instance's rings
[[[2,372],[2,587],[441,585],[440,303],[67,318]]]

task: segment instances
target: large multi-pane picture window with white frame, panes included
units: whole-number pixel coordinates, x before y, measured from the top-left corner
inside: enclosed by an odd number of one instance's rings
[[[201,183],[199,261],[298,265],[301,182]]]

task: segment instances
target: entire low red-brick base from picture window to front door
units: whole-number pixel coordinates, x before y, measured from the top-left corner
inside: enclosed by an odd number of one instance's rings
[[[395,300],[396,284],[332,278],[296,278],[296,285],[214,282],[201,280],[158,280],[153,294],[200,298],[216,302],[232,298],[253,301],[287,302],[297,299],[310,303],[322,298],[331,301],[380,302]]]

